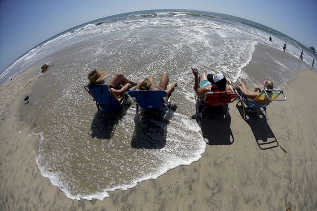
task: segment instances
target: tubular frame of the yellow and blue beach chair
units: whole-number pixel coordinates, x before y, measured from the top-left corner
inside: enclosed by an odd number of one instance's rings
[[[283,98],[283,99],[271,99],[270,97],[268,97],[266,91],[278,92],[277,97],[282,94],[284,98]],[[271,101],[271,102],[272,102],[272,101],[286,101],[286,96],[284,95],[283,90],[264,89],[264,90],[262,90],[262,92],[260,92],[260,94],[259,94],[258,96],[260,96],[260,95],[263,94],[263,93],[265,94],[265,97],[266,97],[269,101]],[[257,103],[254,103],[254,101],[258,98],[258,96],[257,96],[252,102],[250,102],[250,101],[248,100],[248,98],[246,98],[246,97],[244,97],[244,96],[242,95],[242,93],[241,93],[240,90],[238,90],[238,95],[240,96],[240,101],[239,101],[239,102],[241,102],[241,105],[242,105],[242,112],[243,112],[243,119],[244,119],[244,120],[247,120],[247,118],[246,118],[246,111],[248,111],[248,112],[256,112],[256,111],[253,111],[253,110],[248,109],[248,108],[254,108],[254,107],[260,108],[260,110],[265,113],[263,118],[266,119],[266,117],[267,117],[266,106],[268,106],[271,102],[269,102],[269,103],[267,103],[267,104],[259,105],[259,104],[257,104]],[[276,98],[277,98],[277,97],[276,97]],[[237,103],[237,105],[239,104],[239,102]],[[246,105],[245,102],[246,102],[248,105]],[[261,109],[261,108],[262,108],[262,109]]]

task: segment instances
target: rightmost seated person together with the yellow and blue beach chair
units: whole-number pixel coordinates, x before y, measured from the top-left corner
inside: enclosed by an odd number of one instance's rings
[[[233,90],[236,90],[240,96],[240,102],[243,108],[243,118],[246,118],[246,110],[252,110],[253,108],[263,109],[265,114],[263,114],[264,119],[266,118],[266,106],[268,106],[272,101],[285,101],[286,97],[283,93],[283,90],[274,90],[273,83],[270,81],[264,81],[263,90],[260,87],[256,87],[254,92],[251,92],[246,89],[246,86],[243,82],[239,85],[234,85],[231,83]],[[255,92],[258,92],[255,93]],[[283,96],[279,98],[279,96]]]

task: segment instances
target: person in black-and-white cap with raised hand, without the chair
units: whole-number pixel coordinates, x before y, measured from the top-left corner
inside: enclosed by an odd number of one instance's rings
[[[194,90],[199,97],[205,95],[206,92],[227,90],[227,79],[222,73],[207,74],[203,72],[198,76],[198,69],[193,67],[192,72],[195,76]]]

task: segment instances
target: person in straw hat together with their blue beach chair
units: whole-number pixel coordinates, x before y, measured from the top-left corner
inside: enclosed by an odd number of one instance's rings
[[[97,69],[91,71],[88,74],[89,85],[85,86],[85,90],[96,101],[98,110],[114,111],[118,108],[118,102],[123,103],[123,96],[127,90],[137,84],[127,79],[122,73],[116,73],[106,84],[107,75],[105,71]]]

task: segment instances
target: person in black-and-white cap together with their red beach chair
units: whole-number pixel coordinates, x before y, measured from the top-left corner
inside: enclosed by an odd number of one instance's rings
[[[196,114],[202,116],[202,112],[208,106],[225,106],[225,117],[228,115],[228,104],[232,103],[237,94],[230,88],[229,82],[221,74],[207,74],[203,72],[198,76],[198,69],[192,68],[193,75],[195,76],[194,90],[197,94],[196,101]],[[199,112],[200,106],[205,106]]]

